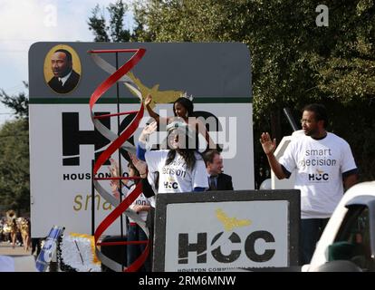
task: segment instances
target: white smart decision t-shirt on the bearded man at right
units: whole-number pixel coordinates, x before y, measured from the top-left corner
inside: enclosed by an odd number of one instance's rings
[[[322,140],[305,135],[293,139],[279,162],[289,172],[296,169],[301,218],[330,218],[342,198],[342,173],[357,169],[351,147],[333,133]]]

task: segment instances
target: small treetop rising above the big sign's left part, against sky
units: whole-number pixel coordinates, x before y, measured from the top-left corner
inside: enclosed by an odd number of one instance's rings
[[[89,29],[93,31],[95,42],[129,42],[130,30],[124,28],[123,20],[128,10],[128,5],[122,3],[122,0],[117,1],[107,7],[110,14],[109,24],[104,16],[103,9],[96,5],[92,9],[92,15],[89,18]]]

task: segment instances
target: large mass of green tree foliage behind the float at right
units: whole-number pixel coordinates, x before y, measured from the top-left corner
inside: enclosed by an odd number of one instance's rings
[[[306,103],[322,102],[332,112],[331,130],[351,144],[361,179],[373,179],[375,4],[332,0],[325,4],[328,26],[315,24],[318,5],[322,1],[138,0],[135,38],[247,44],[252,60],[255,167],[264,168],[266,162],[259,157],[261,131],[271,131],[277,140],[291,133],[281,114],[284,107],[299,120]],[[365,142],[363,132],[369,134]]]

